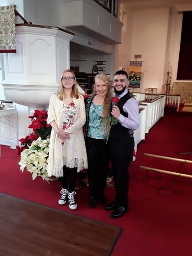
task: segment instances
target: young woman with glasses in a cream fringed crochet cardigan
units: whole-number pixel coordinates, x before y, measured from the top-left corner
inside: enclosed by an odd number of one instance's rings
[[[62,189],[58,203],[63,205],[68,200],[69,208],[75,210],[77,172],[87,169],[87,156],[82,129],[84,98],[78,92],[72,70],[61,74],[60,91],[51,96],[47,123],[52,126],[47,173],[49,177],[60,177]]]

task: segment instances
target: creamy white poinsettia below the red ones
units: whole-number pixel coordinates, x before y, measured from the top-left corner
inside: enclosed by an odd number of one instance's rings
[[[49,158],[49,143],[50,139],[42,140],[39,137],[31,143],[29,148],[21,152],[20,170],[23,172],[26,167],[27,171],[32,174],[33,180],[41,176],[43,180],[48,181],[46,167]]]

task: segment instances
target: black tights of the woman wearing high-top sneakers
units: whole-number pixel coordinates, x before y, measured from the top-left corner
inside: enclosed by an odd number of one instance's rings
[[[68,168],[63,166],[63,177],[60,178],[62,188],[69,190],[69,193],[75,190],[77,180],[77,168]]]

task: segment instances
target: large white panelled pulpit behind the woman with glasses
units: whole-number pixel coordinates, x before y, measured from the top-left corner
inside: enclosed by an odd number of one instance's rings
[[[2,84],[8,97],[32,109],[45,108],[59,90],[61,72],[70,67],[69,42],[73,37],[58,27],[17,24],[17,53],[4,54]]]

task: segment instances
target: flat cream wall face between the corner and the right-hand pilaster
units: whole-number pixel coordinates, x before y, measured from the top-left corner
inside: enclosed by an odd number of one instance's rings
[[[157,87],[162,92],[167,41],[169,9],[157,8],[135,11],[131,58],[141,54],[143,62],[140,91]],[[140,60],[140,59],[139,59]]]

